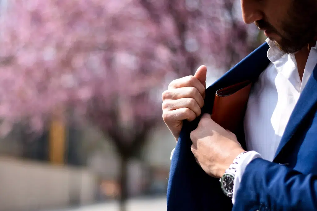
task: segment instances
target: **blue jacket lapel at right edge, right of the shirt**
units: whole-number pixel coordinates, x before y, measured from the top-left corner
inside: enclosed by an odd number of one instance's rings
[[[276,150],[276,157],[280,154],[283,147],[288,143],[289,140],[293,137],[294,133],[304,122],[304,119],[308,117],[309,111],[314,108],[317,102],[317,65],[315,66],[312,75],[308,79],[308,82],[301,93],[298,102],[288,120],[288,124],[285,128],[285,132],[281,138],[281,142]]]

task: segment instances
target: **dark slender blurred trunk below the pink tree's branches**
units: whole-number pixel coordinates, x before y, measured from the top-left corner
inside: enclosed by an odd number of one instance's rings
[[[128,178],[128,157],[121,155],[120,163],[120,211],[126,211],[126,200],[128,197],[128,187],[127,187],[127,178]]]

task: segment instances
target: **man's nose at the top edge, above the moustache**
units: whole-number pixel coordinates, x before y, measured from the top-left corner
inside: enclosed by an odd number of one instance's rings
[[[241,0],[241,9],[243,21],[246,24],[263,19],[263,13],[256,0]]]

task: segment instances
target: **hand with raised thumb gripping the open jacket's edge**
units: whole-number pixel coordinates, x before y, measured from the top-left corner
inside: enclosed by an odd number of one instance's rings
[[[200,66],[194,76],[172,81],[162,94],[163,120],[178,140],[183,120],[193,121],[201,114],[206,90],[206,66]]]

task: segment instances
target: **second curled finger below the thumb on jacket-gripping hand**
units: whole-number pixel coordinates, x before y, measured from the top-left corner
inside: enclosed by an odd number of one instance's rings
[[[187,97],[195,99],[200,108],[204,106],[204,99],[195,87],[181,87],[178,89],[166,90],[162,94],[163,101],[166,99],[178,100]]]

